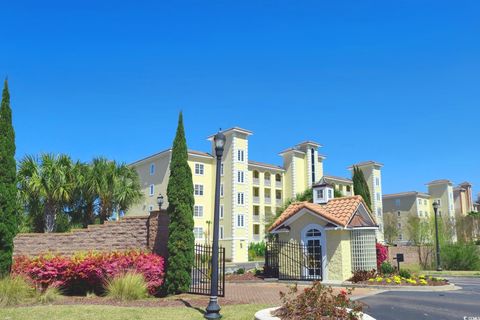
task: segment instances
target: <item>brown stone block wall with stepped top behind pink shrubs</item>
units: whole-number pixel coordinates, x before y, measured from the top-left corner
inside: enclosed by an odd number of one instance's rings
[[[156,211],[150,216],[125,217],[67,233],[20,233],[13,240],[13,255],[55,253],[69,256],[79,251],[141,249],[166,257],[167,240],[167,213]]]

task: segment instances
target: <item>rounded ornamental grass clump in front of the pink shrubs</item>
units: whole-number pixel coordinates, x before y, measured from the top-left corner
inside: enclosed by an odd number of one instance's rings
[[[141,274],[127,272],[108,280],[105,285],[107,297],[117,300],[138,300],[148,295],[147,282]]]

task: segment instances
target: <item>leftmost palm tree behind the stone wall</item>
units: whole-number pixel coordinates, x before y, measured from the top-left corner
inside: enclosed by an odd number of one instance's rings
[[[53,232],[57,214],[70,201],[74,186],[72,160],[67,155],[26,156],[20,162],[19,186],[30,205],[41,204],[44,231]],[[30,201],[31,200],[31,201]]]

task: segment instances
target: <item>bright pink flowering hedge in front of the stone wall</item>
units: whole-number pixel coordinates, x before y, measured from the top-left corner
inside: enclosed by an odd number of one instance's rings
[[[73,257],[16,257],[12,266],[14,275],[26,276],[39,290],[61,287],[71,294],[101,293],[106,280],[128,271],[142,274],[149,293],[155,295],[163,284],[164,259],[139,251],[89,252]]]

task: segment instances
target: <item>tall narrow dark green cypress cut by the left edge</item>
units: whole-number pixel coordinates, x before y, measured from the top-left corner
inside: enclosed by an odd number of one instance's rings
[[[16,174],[15,132],[5,80],[0,106],[0,274],[10,270],[13,237],[18,228]]]

